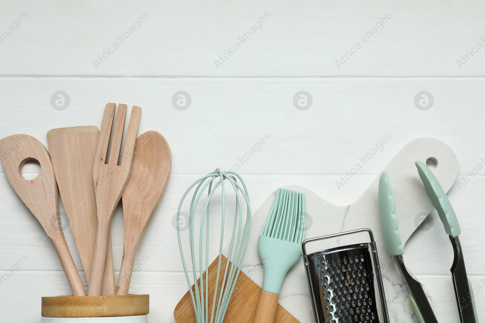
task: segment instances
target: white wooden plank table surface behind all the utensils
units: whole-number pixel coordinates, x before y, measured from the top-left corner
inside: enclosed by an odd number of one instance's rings
[[[138,252],[149,261],[130,286],[150,294],[151,323],[175,322],[173,309],[188,288],[172,219],[195,179],[238,164],[253,210],[282,185],[346,205],[419,137],[438,138],[457,156],[449,196],[485,321],[483,2],[2,0],[0,8],[0,138],[27,133],[47,146],[49,129],[99,127],[104,105],[115,102],[142,107],[139,134],[154,129],[170,144],[172,174]],[[190,95],[190,106],[178,91]],[[382,151],[338,187],[387,134]],[[35,171],[24,169],[26,176]],[[0,321],[37,322],[41,296],[70,291],[3,169],[0,192]],[[438,321],[457,323],[453,251],[432,216],[436,225],[406,244],[406,264],[432,294]],[[119,268],[121,207],[112,231]],[[81,268],[70,231],[65,235]]]

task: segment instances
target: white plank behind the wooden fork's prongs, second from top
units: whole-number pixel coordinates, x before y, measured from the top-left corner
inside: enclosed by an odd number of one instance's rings
[[[448,144],[458,156],[459,174],[485,157],[485,142],[479,135],[485,132],[482,78],[448,79],[442,85],[442,80],[423,78],[407,80],[409,85],[400,78],[327,79],[320,86],[321,81],[312,78],[286,79],[288,85],[260,78],[162,81],[51,77],[42,79],[44,86],[35,77],[0,78],[5,107],[0,137],[26,132],[47,146],[49,129],[99,127],[104,105],[116,98],[143,107],[139,133],[159,131],[175,146],[172,174],[205,174],[215,165],[230,169],[236,164],[241,173],[249,174],[344,174],[388,133],[392,139],[359,175],[377,174],[407,142],[419,137]],[[173,95],[181,89],[192,97],[184,111],[172,105]],[[60,90],[70,97],[69,107],[62,111],[50,103]],[[306,111],[292,102],[302,90],[313,97]],[[427,111],[414,103],[422,90],[435,100]],[[241,162],[239,158],[265,134],[271,138],[262,148],[256,147],[249,161],[246,156]],[[194,147],[204,149],[194,153]],[[289,156],[288,163],[281,162]]]

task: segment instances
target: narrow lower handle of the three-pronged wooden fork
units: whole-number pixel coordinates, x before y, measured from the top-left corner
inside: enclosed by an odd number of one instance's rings
[[[100,296],[103,286],[104,265],[108,251],[110,225],[99,221],[97,223],[96,243],[94,245],[93,267],[89,278],[88,296]]]

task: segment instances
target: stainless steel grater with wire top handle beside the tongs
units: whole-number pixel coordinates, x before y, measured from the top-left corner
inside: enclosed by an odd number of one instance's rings
[[[307,254],[308,243],[360,232],[368,232],[371,242]],[[302,248],[316,323],[389,322],[377,249],[370,229],[307,239]]]

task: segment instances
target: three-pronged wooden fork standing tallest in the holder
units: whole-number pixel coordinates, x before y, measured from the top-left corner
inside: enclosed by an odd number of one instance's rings
[[[108,238],[111,230],[111,220],[113,219],[114,210],[118,205],[129,180],[136,142],[136,132],[138,131],[138,123],[140,122],[140,114],[142,112],[140,107],[133,106],[125,141],[125,149],[123,155],[119,158],[127,106],[126,104],[118,105],[111,150],[109,160],[107,160],[108,144],[110,141],[115,108],[116,105],[114,103],[108,103],[104,109],[93,169],[97,205],[97,232],[93,267],[91,269],[91,278],[89,280],[89,296],[101,295]],[[118,162],[120,159],[121,162]]]

